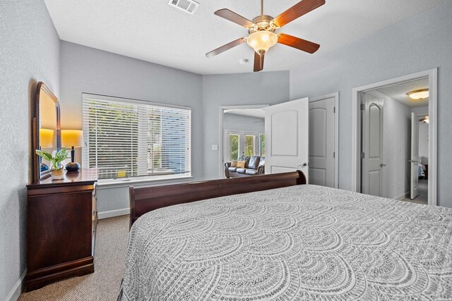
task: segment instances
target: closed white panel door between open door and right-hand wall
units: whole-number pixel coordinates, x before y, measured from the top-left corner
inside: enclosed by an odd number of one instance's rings
[[[311,184],[334,187],[334,105],[334,97],[309,102]]]

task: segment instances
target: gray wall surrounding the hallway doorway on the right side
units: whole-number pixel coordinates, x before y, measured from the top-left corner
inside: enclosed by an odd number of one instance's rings
[[[340,92],[339,188],[350,190],[352,88],[439,67],[438,202],[452,207],[452,1],[290,70],[290,99]],[[413,42],[419,41],[419,42]],[[321,42],[321,41],[319,41]],[[321,44],[321,43],[320,43]]]

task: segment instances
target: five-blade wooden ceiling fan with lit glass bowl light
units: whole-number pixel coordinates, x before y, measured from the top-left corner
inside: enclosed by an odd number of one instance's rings
[[[222,8],[215,11],[215,15],[230,20],[238,25],[245,27],[248,30],[248,37],[241,37],[228,44],[223,45],[213,51],[206,54],[208,58],[221,54],[222,52],[236,47],[246,42],[249,47],[254,49],[254,72],[261,71],[263,69],[263,59],[270,47],[275,46],[276,43],[285,44],[296,49],[309,52],[314,52],[319,49],[320,45],[309,42],[305,39],[299,39],[298,37],[292,37],[285,33],[275,33],[275,30],[283,27],[287,23],[314,11],[314,9],[325,4],[325,0],[302,0],[295,4],[291,8],[287,9],[284,13],[281,13],[278,17],[273,18],[263,14],[263,0],[261,0],[261,16],[257,16],[252,21],[240,16],[227,8]]]

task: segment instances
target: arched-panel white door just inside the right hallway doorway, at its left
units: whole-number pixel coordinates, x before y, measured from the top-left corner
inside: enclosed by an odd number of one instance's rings
[[[383,195],[383,99],[362,94],[362,193]]]

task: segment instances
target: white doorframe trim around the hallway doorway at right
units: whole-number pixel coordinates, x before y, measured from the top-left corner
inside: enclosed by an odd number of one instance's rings
[[[429,167],[432,166],[433,173],[429,173],[429,205],[437,205],[437,105],[438,105],[438,68],[423,70],[417,73],[382,80],[368,85],[352,89],[352,191],[358,192],[361,181],[361,114],[359,93],[376,90],[389,85],[397,85],[421,78],[429,79]],[[430,170],[430,168],[429,168]]]

